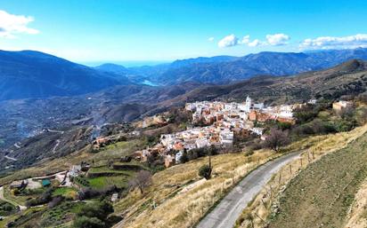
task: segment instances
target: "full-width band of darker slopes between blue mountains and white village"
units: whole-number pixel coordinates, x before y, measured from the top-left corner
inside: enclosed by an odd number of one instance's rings
[[[338,99],[365,92],[366,83],[366,64],[350,60],[322,71],[287,77],[257,76],[226,85],[121,85],[86,96],[4,101],[0,102],[3,110],[0,123],[5,126],[0,130],[0,139],[4,140],[0,147],[32,136],[46,126],[131,122],[143,115],[184,106],[186,102],[214,99],[242,102],[248,95],[266,105],[303,102],[310,98]]]

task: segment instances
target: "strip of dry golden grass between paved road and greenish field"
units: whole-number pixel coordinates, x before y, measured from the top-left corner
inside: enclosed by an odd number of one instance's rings
[[[314,145],[310,146],[305,153],[302,153],[301,159],[291,161],[273,176],[261,193],[242,212],[236,226],[243,228],[264,227],[272,211],[272,206],[274,207],[278,204],[277,200],[279,200],[290,179],[296,177],[299,171],[305,169],[310,162],[319,160],[324,154],[346,147],[350,142],[355,141],[356,138],[360,138],[366,131],[367,125],[350,132],[307,139],[308,143],[311,141],[315,142]],[[307,142],[296,143],[295,146],[300,146],[299,144],[306,145]]]

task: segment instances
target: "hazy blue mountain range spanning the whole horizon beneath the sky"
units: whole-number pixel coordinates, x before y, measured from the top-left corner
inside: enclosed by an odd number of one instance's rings
[[[257,75],[296,75],[348,59],[367,59],[367,49],[265,51],[243,57],[180,59],[143,67],[86,67],[39,51],[0,51],[0,100],[75,96],[129,84],[224,84]]]

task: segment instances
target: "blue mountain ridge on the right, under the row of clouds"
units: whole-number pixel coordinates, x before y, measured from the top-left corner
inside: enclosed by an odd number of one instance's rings
[[[152,80],[165,84],[186,81],[232,83],[256,75],[296,75],[321,70],[349,59],[367,59],[367,49],[299,53],[265,51],[241,58],[187,59],[175,61]]]

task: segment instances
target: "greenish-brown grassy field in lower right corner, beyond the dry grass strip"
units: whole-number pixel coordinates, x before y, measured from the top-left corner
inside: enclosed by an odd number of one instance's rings
[[[290,181],[280,212],[269,227],[343,227],[347,211],[367,177],[367,133],[311,163]]]

